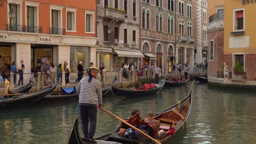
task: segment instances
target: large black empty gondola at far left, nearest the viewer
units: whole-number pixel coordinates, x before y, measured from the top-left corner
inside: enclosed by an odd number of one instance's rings
[[[14,95],[11,98],[8,95],[4,97],[0,97],[0,110],[31,105],[43,99],[45,95],[54,91],[55,87],[56,87],[56,80],[54,79],[53,86],[48,86],[46,88],[41,89],[38,92],[24,94],[24,95]]]

